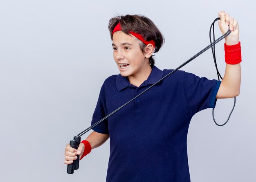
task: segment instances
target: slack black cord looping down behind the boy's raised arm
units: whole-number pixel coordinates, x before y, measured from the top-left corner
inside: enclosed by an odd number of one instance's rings
[[[215,23],[217,20],[220,20],[220,18],[216,18],[216,19],[213,21],[213,23],[211,24],[211,27],[210,27],[210,33],[209,33],[210,42],[211,42],[211,29],[212,29],[212,31],[213,31],[213,42],[215,41],[214,23]],[[217,76],[218,76],[218,81],[220,81],[220,79],[223,79],[223,78],[222,78],[221,75],[220,75],[220,72],[219,72],[218,66],[217,66],[217,62],[216,62],[215,45],[213,45],[213,46],[211,47],[211,52],[212,52],[213,61],[214,61],[215,67],[216,67],[216,72],[217,72]],[[227,121],[226,121],[224,124],[222,124],[222,125],[218,124],[218,123],[215,121],[215,118],[214,118],[214,108],[213,108],[213,109],[212,109],[212,117],[213,117],[214,123],[215,123],[216,125],[218,125],[218,126],[224,126],[224,125],[229,121],[229,118],[230,118],[230,116],[231,116],[231,114],[232,114],[232,112],[233,112],[233,110],[234,110],[234,108],[235,108],[235,105],[236,105],[236,97],[234,97],[234,105],[233,105],[233,108],[232,108],[232,110],[231,110],[231,112],[230,112],[230,114],[229,114],[229,117],[227,118]]]

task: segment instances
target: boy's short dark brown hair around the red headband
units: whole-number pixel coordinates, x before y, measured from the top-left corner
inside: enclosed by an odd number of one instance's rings
[[[110,31],[111,40],[113,40],[112,32],[118,23],[120,23],[122,31],[127,35],[129,35],[129,32],[132,31],[141,34],[146,41],[154,40],[154,53],[157,53],[164,44],[164,36],[162,33],[159,31],[157,26],[155,26],[155,24],[144,15],[118,15],[111,18],[108,23],[108,30]],[[146,47],[146,44],[141,42],[140,47],[142,52],[144,52],[144,47]],[[154,55],[151,55],[149,58],[150,66],[155,64],[155,59],[153,56]]]

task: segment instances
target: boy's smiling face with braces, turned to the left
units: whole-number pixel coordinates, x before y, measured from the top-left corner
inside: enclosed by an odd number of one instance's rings
[[[150,64],[139,46],[139,39],[122,31],[113,34],[114,59],[123,77],[142,75]]]

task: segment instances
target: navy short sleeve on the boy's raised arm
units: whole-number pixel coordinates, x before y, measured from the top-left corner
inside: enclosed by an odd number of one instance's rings
[[[184,93],[186,101],[195,114],[207,108],[214,108],[221,81],[198,77],[184,72]]]

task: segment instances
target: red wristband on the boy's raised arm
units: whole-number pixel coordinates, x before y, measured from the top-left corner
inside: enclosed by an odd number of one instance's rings
[[[239,64],[242,61],[240,42],[231,46],[227,46],[225,43],[224,48],[225,61],[227,64]]]

